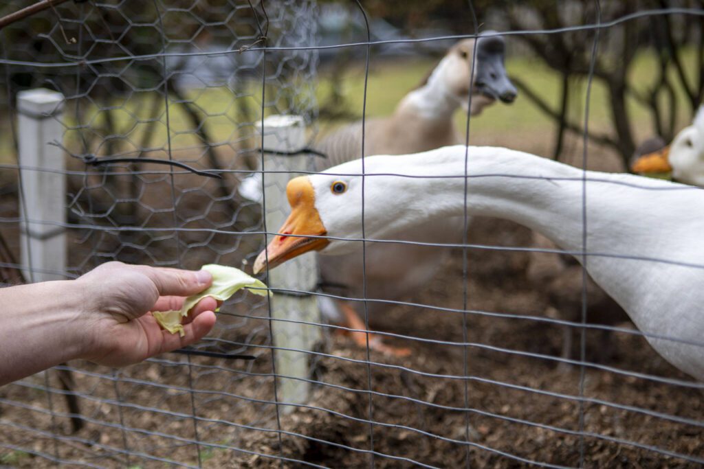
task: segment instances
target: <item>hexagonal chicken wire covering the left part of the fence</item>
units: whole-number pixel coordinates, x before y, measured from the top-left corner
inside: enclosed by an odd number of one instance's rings
[[[11,2],[3,12],[22,6]],[[65,96],[63,114],[54,117],[62,135],[50,143],[69,155],[68,264],[49,274],[73,278],[113,259],[242,266],[256,254],[261,209],[235,188],[258,167],[263,115],[299,115],[310,127],[318,65],[314,49],[265,53],[263,36],[272,47],[315,46],[316,24],[313,1],[264,9],[256,1],[127,0],[64,3],[6,27],[4,112],[13,112],[23,89]],[[2,125],[2,163],[17,168],[16,129],[8,119]],[[134,160],[87,163],[106,158]],[[2,235],[11,257],[4,266],[19,261],[19,183],[17,171],[3,172]],[[234,354],[259,346],[256,361],[193,364],[168,354],[130,371],[72,364],[23,380],[4,390],[3,402],[29,417],[6,416],[2,443],[50,461],[97,466],[197,465],[214,449],[244,448],[249,432],[277,429],[267,314],[262,297],[237,295],[198,346]],[[63,399],[69,387],[80,409]],[[46,399],[23,399],[27,394]],[[75,435],[66,417],[72,412],[85,419]]]

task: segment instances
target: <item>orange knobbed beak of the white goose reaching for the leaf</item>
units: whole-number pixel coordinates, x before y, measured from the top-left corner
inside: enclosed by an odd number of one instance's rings
[[[267,265],[272,269],[304,252],[321,250],[329,244],[325,238],[310,237],[325,236],[327,230],[315,208],[315,191],[308,178],[301,176],[291,179],[286,186],[286,195],[291,214],[279,229],[280,234],[257,256],[254,274],[259,274]]]

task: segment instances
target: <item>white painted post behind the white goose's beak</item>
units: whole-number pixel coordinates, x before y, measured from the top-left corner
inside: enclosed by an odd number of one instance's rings
[[[274,151],[300,150],[306,145],[305,124],[300,116],[273,115],[264,120],[264,148]],[[272,233],[284,224],[291,211],[286,198],[288,181],[298,176],[296,171],[308,168],[306,155],[264,154],[264,194],[266,227]],[[290,171],[278,173],[268,171]],[[267,237],[267,243],[270,236]],[[312,292],[318,283],[315,255],[309,252],[269,272],[271,288],[282,288],[301,292]],[[320,311],[313,295],[290,296],[275,294],[272,297],[272,323],[274,333],[276,371],[291,378],[310,378],[310,354],[320,341],[320,327],[289,321],[320,323]],[[286,319],[287,321],[277,321]],[[294,352],[293,350],[296,350]],[[298,352],[300,350],[300,352]],[[308,401],[310,384],[303,380],[279,378],[277,391],[279,401],[303,404]],[[284,406],[290,413],[295,406]]]

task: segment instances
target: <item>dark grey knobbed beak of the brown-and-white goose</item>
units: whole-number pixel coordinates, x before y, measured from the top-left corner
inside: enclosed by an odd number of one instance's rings
[[[518,91],[506,75],[503,66],[504,49],[501,36],[489,35],[479,38],[474,87],[484,96],[500,99],[503,103],[513,103]]]

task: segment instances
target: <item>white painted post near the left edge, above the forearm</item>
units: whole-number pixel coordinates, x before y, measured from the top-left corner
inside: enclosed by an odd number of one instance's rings
[[[17,95],[21,224],[20,250],[25,277],[40,282],[64,279],[66,266],[65,162],[63,129],[56,116],[63,94],[39,88]]]

